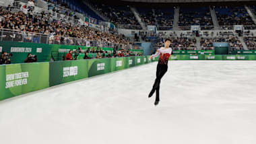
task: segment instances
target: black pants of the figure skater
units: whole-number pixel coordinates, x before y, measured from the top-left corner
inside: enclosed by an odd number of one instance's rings
[[[166,73],[167,69],[168,69],[167,65],[158,64],[158,66],[157,66],[156,80],[155,80],[155,83],[154,83],[153,88],[152,88],[152,92],[156,91],[156,101],[160,100],[160,98],[159,98],[160,82],[161,82],[162,77]]]

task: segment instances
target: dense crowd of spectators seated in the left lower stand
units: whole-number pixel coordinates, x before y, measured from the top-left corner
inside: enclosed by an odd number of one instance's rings
[[[50,35],[50,44],[68,43],[72,45],[75,40],[80,45],[86,45],[86,40],[129,44],[129,40],[123,34],[103,32],[96,28],[90,28],[89,26],[73,26],[72,24],[65,24],[59,20],[51,20],[51,13],[46,14],[43,11],[40,15],[34,15],[30,12],[26,14],[22,11],[11,13],[9,9],[0,7],[0,28],[21,31],[20,34],[16,34],[16,37],[22,36],[25,42],[31,42],[32,40],[33,42],[38,42],[38,34],[43,34],[44,36]],[[5,36],[13,38],[11,35]],[[34,39],[32,39],[32,36]]]

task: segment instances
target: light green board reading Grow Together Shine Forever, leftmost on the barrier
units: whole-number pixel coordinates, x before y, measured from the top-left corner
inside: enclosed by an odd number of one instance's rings
[[[49,87],[49,63],[0,66],[0,100]]]

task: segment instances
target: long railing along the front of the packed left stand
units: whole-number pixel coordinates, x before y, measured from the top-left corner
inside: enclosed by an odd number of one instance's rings
[[[0,41],[28,42],[40,44],[63,44],[75,46],[95,46],[106,48],[131,49],[132,44],[117,44],[111,42],[100,42],[87,40],[85,38],[71,38],[69,36],[53,36],[50,34],[38,34],[34,32],[23,32],[19,30],[0,29]]]

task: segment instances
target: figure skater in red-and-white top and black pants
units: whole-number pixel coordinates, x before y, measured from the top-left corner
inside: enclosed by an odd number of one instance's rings
[[[168,60],[170,55],[172,55],[172,48],[169,48],[170,42],[171,40],[168,38],[164,40],[164,47],[159,48],[158,50],[156,50],[156,54],[150,56],[150,59],[152,59],[153,57],[158,57],[160,55],[158,60],[158,66],[156,69],[156,80],[150,94],[148,95],[148,98],[151,98],[154,92],[156,91],[156,101],[154,103],[155,106],[158,105],[160,101],[160,98],[159,98],[160,81],[168,69]]]

